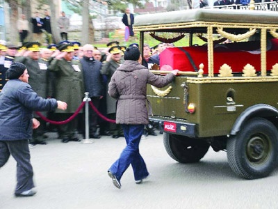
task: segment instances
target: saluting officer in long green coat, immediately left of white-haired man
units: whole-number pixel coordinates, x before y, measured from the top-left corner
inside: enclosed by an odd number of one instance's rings
[[[67,102],[67,111],[56,111],[59,121],[65,121],[72,116],[83,101],[83,71],[81,63],[73,60],[72,44],[62,44],[58,46],[60,54],[51,61],[49,70],[56,75],[56,99],[63,99]],[[59,125],[60,137],[63,143],[69,141],[80,141],[76,136],[76,118],[69,123]]]

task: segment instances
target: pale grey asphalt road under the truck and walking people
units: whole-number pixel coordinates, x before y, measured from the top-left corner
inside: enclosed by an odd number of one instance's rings
[[[56,134],[49,136],[47,145],[31,149],[35,196],[13,196],[13,157],[0,169],[1,209],[278,208],[278,169],[268,178],[238,178],[224,152],[210,149],[199,163],[179,164],[167,155],[162,135],[149,136],[141,141],[140,153],[151,178],[136,185],[129,167],[117,189],[107,169],[124,148],[123,138],[62,144]]]

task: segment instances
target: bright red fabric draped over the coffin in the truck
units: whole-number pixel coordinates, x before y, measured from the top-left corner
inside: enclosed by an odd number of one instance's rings
[[[278,40],[271,40],[271,49],[267,52],[267,70],[271,70],[272,65],[278,63]],[[207,46],[182,47],[188,52],[199,69],[199,64],[204,64],[204,74],[208,74]],[[261,54],[256,49],[260,48],[260,43],[234,42],[226,45],[215,45],[214,48],[214,73],[218,73],[220,67],[226,63],[231,66],[233,72],[242,72],[247,63],[253,65],[256,71],[261,70]],[[253,54],[259,53],[259,54]],[[181,71],[194,71],[186,53],[179,47],[167,48],[160,54],[160,66],[170,65],[173,69]]]

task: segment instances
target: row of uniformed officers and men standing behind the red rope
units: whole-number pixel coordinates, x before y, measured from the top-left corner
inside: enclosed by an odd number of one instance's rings
[[[137,47],[137,43],[129,47]],[[163,49],[172,47],[171,44],[159,43],[155,47],[144,45],[142,65],[151,69],[156,63],[159,65],[159,56]],[[90,44],[81,46],[80,42],[64,40],[58,45],[42,47],[40,42],[24,42],[22,47],[0,42],[0,89],[8,79],[6,71],[14,62],[23,63],[28,69],[30,78],[28,83],[42,98],[56,98],[67,102],[66,111],[56,110],[55,113],[43,112],[43,116],[53,121],[65,121],[79,108],[85,92],[89,93],[90,100],[101,114],[109,119],[116,118],[117,100],[108,95],[108,83],[117,68],[124,62],[123,54],[126,47],[120,46],[118,41],[108,42],[107,48],[99,51]],[[36,144],[47,144],[47,131],[57,131],[58,138],[63,143],[80,141],[79,134],[85,132],[84,116],[79,114],[69,123],[52,125],[35,114],[34,118],[40,121],[40,127],[33,131],[30,147]],[[121,125],[108,123],[100,118],[90,108],[89,117],[90,138],[99,139],[103,135],[115,139],[124,137]],[[156,136],[156,128],[152,124],[145,126],[143,137]],[[84,136],[85,137],[85,136]]]

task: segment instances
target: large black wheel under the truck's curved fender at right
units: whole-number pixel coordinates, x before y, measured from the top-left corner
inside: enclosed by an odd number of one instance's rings
[[[265,118],[252,118],[227,141],[231,169],[247,179],[269,176],[275,169],[278,153],[278,131]]]

